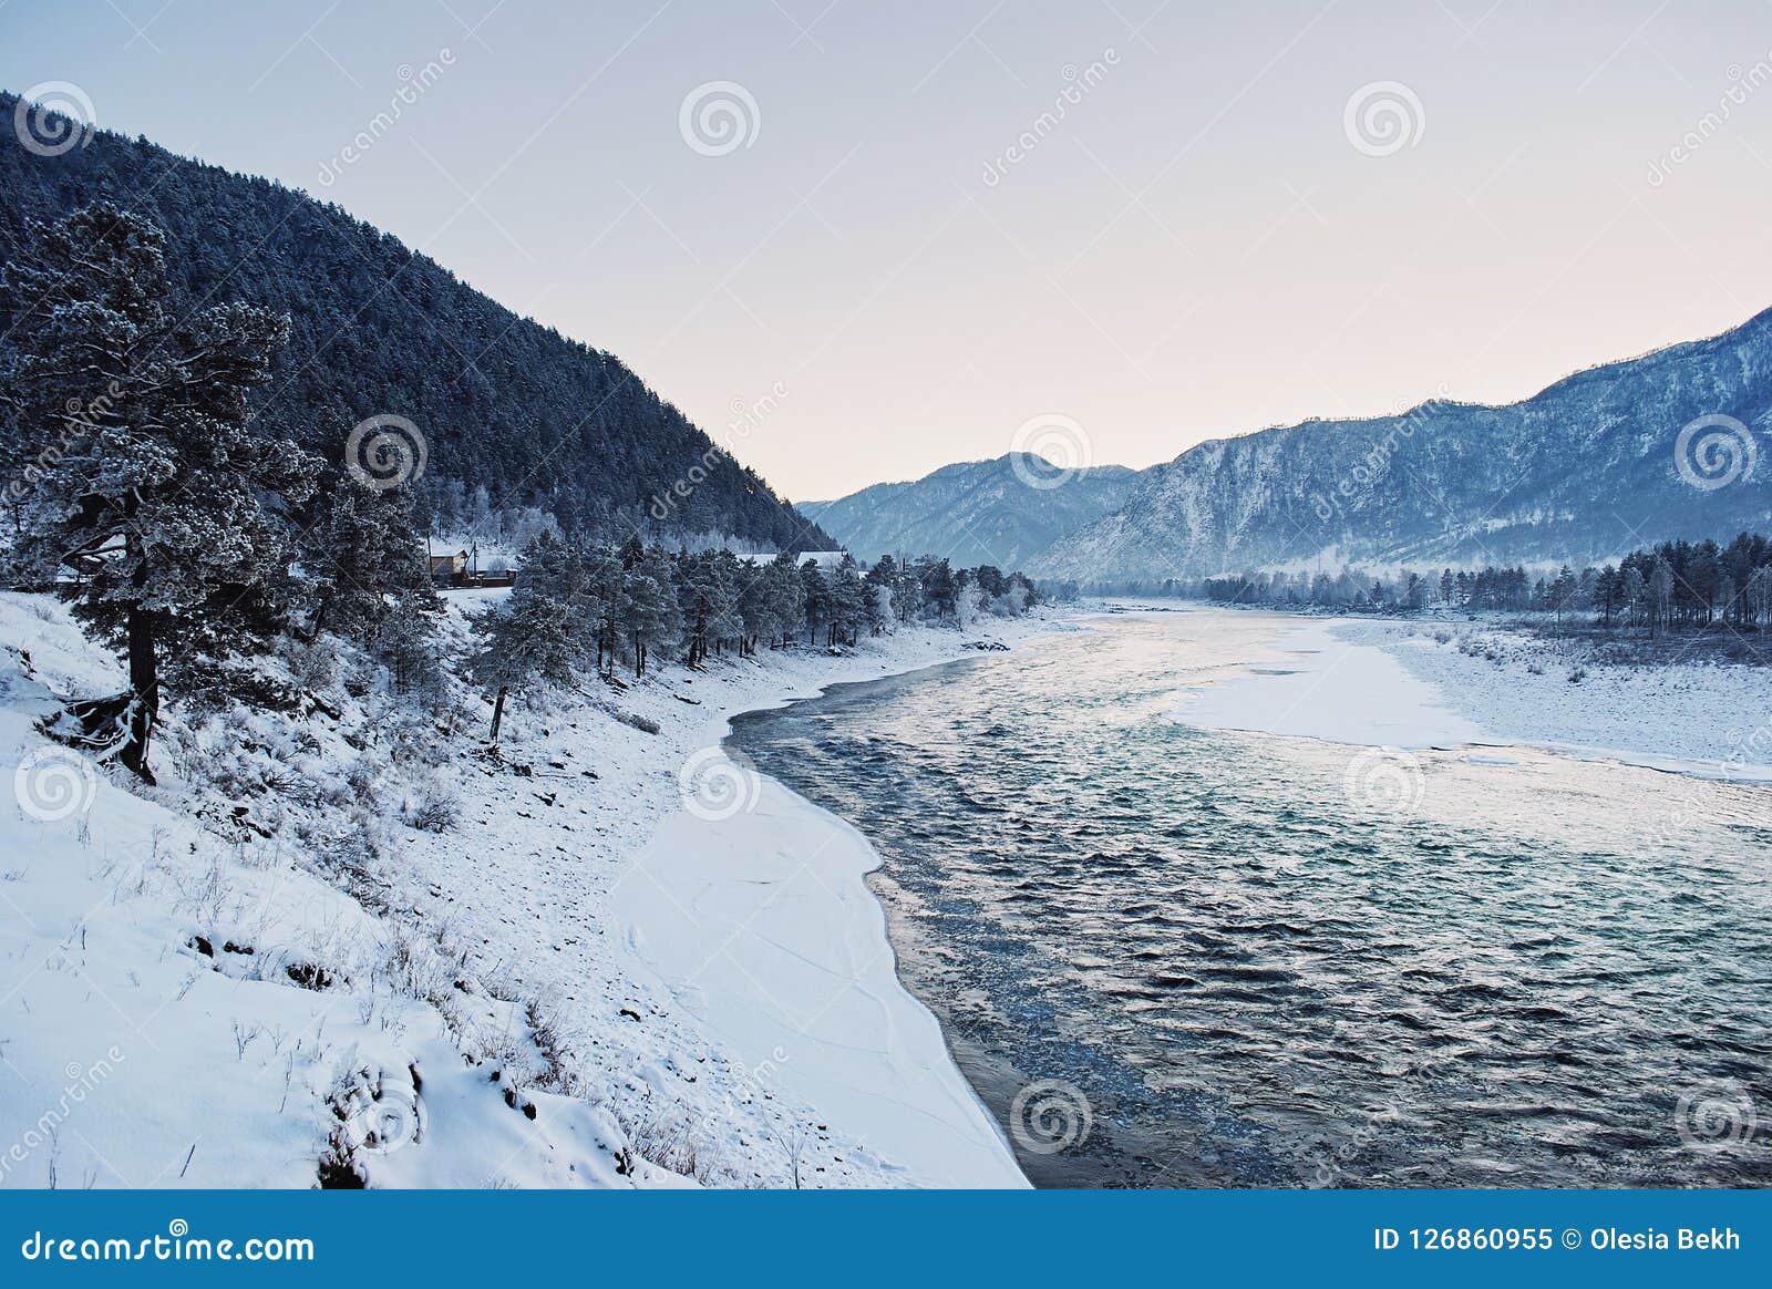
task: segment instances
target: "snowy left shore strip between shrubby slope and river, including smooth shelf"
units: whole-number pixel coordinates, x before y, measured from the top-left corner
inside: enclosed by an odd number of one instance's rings
[[[861,880],[874,852],[750,777],[721,740],[739,712],[1058,625],[991,620],[838,655],[719,655],[703,673],[668,668],[571,708],[517,710],[505,753],[537,779],[470,776],[471,853],[415,837],[413,876],[477,961],[505,963],[514,990],[548,999],[571,1046],[595,1045],[617,1114],[682,1142],[675,1153],[705,1181],[792,1185],[797,1151],[806,1186],[1022,1185],[937,1023],[893,974]]]

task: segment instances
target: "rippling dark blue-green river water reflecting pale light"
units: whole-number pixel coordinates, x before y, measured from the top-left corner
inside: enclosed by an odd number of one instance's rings
[[[734,722],[882,857],[1037,1185],[1772,1183],[1772,790],[1178,724],[1253,614],[1104,618]]]

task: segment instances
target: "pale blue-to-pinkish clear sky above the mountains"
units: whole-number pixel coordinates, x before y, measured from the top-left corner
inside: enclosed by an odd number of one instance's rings
[[[1763,0],[5,0],[43,81],[613,351],[794,499],[1030,418],[1145,466],[1519,398],[1772,305]],[[730,151],[680,129],[714,81]]]

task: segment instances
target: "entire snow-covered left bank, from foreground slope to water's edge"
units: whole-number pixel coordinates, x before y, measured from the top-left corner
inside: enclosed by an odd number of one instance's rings
[[[122,682],[0,595],[0,1185],[1024,1185],[897,983],[867,843],[718,744],[1065,625],[594,682],[517,705],[498,760],[486,712],[392,729],[353,694],[168,721],[147,790],[35,733]]]

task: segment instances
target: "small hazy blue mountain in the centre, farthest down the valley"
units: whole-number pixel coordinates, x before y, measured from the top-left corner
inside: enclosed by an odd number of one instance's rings
[[[907,483],[875,483],[840,501],[803,501],[858,560],[946,556],[957,565],[1019,568],[1053,542],[1125,505],[1136,471],[1061,471],[1042,457],[943,466]]]

